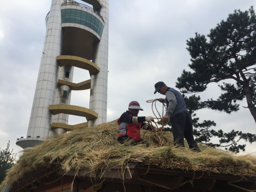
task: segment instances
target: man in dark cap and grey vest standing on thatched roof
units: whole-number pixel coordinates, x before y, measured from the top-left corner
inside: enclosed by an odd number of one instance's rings
[[[165,95],[165,99],[159,98],[158,101],[165,102],[167,105],[167,110],[162,117],[162,121],[168,121],[170,119],[174,144],[179,147],[185,147],[185,137],[189,148],[200,152],[201,150],[193,137],[192,117],[187,111],[186,103],[181,93],[166,86],[162,81],[155,84],[154,94],[156,92]]]

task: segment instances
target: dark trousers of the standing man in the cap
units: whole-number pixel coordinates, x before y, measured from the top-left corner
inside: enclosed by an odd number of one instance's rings
[[[187,139],[187,143],[190,149],[194,149],[198,152],[201,151],[193,136],[192,117],[189,112],[180,112],[172,117],[171,128],[175,145],[178,145],[179,147],[185,147],[185,138]]]

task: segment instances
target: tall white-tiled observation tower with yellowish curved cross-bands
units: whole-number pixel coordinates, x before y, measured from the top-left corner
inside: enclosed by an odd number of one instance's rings
[[[42,143],[50,135],[107,121],[108,0],[52,0],[27,137],[21,148]],[[74,67],[91,79],[73,83]],[[71,91],[90,89],[90,108],[70,105]],[[87,122],[69,125],[69,115]]]

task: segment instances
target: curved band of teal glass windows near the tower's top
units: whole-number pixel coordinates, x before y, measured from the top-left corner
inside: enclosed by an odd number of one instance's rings
[[[62,23],[77,23],[91,28],[98,33],[99,36],[103,32],[103,24],[95,16],[85,11],[76,9],[63,9],[61,10],[61,22]]]

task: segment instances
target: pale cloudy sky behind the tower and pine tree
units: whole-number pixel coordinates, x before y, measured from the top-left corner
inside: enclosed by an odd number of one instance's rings
[[[229,13],[248,10],[255,2],[110,0],[107,121],[119,118],[130,101],[138,101],[144,109],[139,116],[153,116],[151,103],[146,101],[163,97],[154,95],[155,83],[164,81],[175,87],[182,70],[189,70],[186,40],[195,32],[207,35]],[[13,152],[22,151],[16,139],[27,135],[50,5],[51,0],[8,0],[0,6],[0,149],[10,140]],[[73,82],[88,79],[88,71],[75,68]],[[218,98],[220,93],[216,83],[197,95],[207,100]],[[90,90],[72,91],[71,105],[89,108],[89,101]],[[239,104],[246,107],[246,101]],[[215,130],[256,133],[253,117],[244,107],[231,114],[202,109],[197,117],[214,121]],[[69,115],[70,125],[83,122],[85,117]],[[256,143],[240,144],[246,144],[242,154],[256,155]]]

